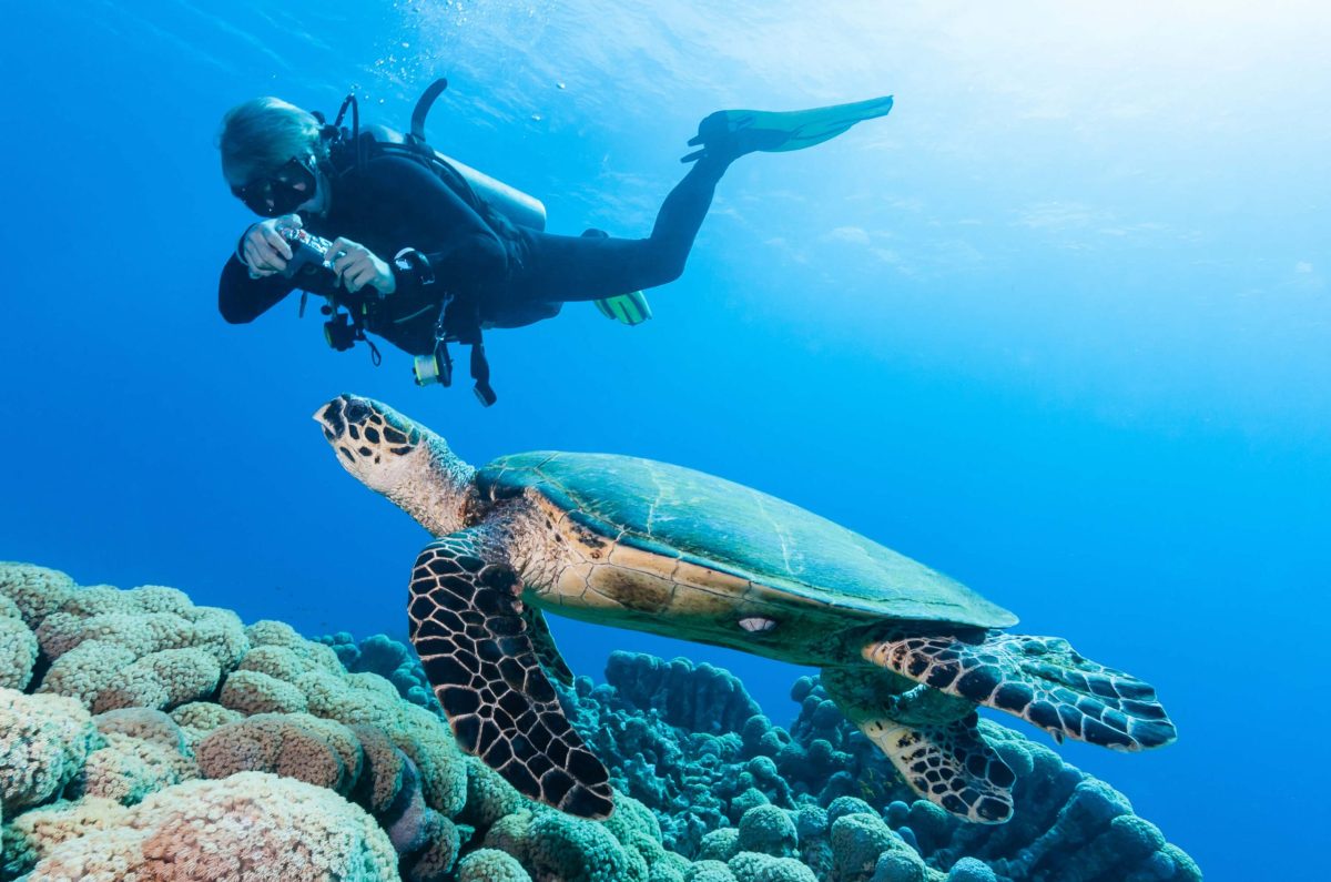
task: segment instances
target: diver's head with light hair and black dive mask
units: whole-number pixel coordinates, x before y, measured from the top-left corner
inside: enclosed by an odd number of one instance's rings
[[[217,137],[222,176],[256,215],[281,217],[319,211],[327,199],[319,163],[327,157],[322,125],[313,113],[281,99],[237,104]]]

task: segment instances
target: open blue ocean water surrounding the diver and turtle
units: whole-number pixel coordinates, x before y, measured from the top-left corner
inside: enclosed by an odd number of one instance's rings
[[[169,584],[248,621],[405,633],[423,532],[309,416],[387,402],[479,464],[631,453],[804,505],[1151,681],[1177,745],[1063,745],[1211,879],[1320,861],[1331,785],[1331,13],[1314,3],[67,3],[0,59],[8,456],[0,558]],[[723,107],[894,93],[886,120],[737,163],[685,276],[628,329],[574,304],[492,333],[500,404],[217,314],[250,221],[222,112],[354,89],[540,197],[646,234]],[[313,312],[313,310],[311,310]],[[559,620],[740,674],[803,671]],[[1029,730],[1028,730],[1029,731]]]

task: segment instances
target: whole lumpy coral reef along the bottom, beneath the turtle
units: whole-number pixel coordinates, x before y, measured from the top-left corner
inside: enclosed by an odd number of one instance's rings
[[[0,564],[0,881],[1183,882],[1122,794],[1012,730],[1006,825],[917,801],[815,678],[773,725],[724,670],[615,653],[560,687],[616,809],[462,754],[411,650],[245,628],[174,589]]]

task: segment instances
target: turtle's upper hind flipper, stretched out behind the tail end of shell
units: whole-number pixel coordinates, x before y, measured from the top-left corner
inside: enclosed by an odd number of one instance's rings
[[[1114,750],[1159,747],[1177,737],[1155,689],[1078,654],[1059,637],[894,636],[868,661],[949,695],[1004,710],[1050,733]]]

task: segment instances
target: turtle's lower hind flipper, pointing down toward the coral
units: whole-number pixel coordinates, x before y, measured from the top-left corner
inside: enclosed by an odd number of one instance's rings
[[[1012,818],[1017,775],[980,734],[978,714],[970,710],[948,719],[960,705],[956,699],[938,701],[914,690],[884,694],[882,677],[876,670],[827,667],[821,682],[841,713],[921,797],[976,823]]]

